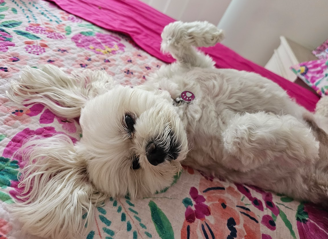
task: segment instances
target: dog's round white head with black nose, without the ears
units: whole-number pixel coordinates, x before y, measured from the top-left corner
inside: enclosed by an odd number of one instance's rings
[[[85,105],[77,153],[100,192],[136,197],[171,185],[188,151],[175,108],[167,92],[123,86]]]

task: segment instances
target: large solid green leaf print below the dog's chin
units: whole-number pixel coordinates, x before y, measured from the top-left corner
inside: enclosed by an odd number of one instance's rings
[[[174,239],[172,225],[164,212],[152,200],[148,205],[159,237],[162,239]]]

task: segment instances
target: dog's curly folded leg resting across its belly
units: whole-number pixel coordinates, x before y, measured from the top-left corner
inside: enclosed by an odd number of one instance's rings
[[[290,115],[236,115],[222,134],[226,166],[246,172],[268,163],[297,167],[318,159],[309,127]]]

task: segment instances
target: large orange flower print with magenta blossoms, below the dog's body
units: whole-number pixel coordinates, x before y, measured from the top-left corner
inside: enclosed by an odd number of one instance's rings
[[[260,239],[260,222],[240,198],[232,186],[201,178],[198,189],[191,188],[190,198],[182,201],[186,213],[181,239]]]

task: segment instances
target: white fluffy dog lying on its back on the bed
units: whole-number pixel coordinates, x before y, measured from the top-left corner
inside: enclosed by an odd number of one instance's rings
[[[162,51],[177,60],[145,84],[115,84],[103,71],[66,75],[26,68],[10,98],[80,116],[74,145],[56,135],[27,142],[21,153],[22,199],[13,210],[31,233],[73,238],[82,214],[108,196],[149,195],[173,181],[181,163],[228,180],[326,204],[327,122],[255,73],[215,69],[194,47],[223,33],[208,22],[174,22]],[[320,147],[319,147],[320,145]]]

